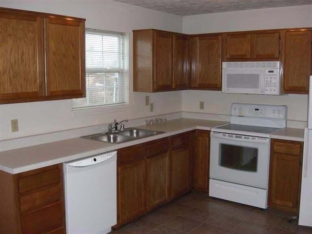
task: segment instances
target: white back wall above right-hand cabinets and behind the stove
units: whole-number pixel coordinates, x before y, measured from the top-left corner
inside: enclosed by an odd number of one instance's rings
[[[183,17],[183,33],[214,33],[274,28],[312,27],[312,5],[265,8]],[[199,101],[205,109],[199,110]],[[303,127],[307,121],[307,95],[237,95],[219,91],[182,92],[182,111],[229,115],[233,102],[288,106],[288,126]],[[295,121],[292,121],[295,120]]]

